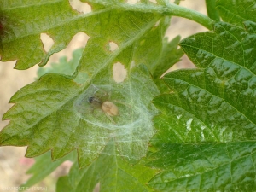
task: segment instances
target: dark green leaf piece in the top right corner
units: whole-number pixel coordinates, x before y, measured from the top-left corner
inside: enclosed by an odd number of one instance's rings
[[[242,22],[246,20],[256,22],[255,5],[256,3],[254,0],[216,1],[216,8],[218,9],[219,15],[222,19],[237,26],[243,26]]]

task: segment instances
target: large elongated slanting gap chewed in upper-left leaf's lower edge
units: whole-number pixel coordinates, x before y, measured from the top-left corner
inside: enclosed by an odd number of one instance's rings
[[[51,62],[58,62],[60,57],[67,56],[67,61],[69,61],[73,57],[73,51],[75,49],[84,48],[89,36],[84,32],[78,32],[76,35],[73,36],[70,43],[67,45],[65,49],[62,49],[60,52],[53,54],[49,58],[49,63]]]

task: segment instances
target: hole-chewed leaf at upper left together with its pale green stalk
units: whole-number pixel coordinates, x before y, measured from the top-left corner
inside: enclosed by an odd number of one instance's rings
[[[44,66],[49,56],[66,48],[77,32],[86,32],[90,37],[105,37],[121,44],[140,32],[143,25],[147,25],[156,15],[183,16],[212,28],[212,20],[207,16],[173,3],[142,2],[131,5],[115,0],[84,2],[90,4],[91,13],[75,11],[68,0],[1,1],[1,61],[17,60],[17,69],[26,69],[37,63]],[[39,38],[41,33],[47,33],[54,40],[47,53]]]

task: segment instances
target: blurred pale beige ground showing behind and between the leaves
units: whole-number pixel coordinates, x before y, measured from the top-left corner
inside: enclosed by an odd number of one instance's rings
[[[131,3],[136,2],[136,0],[131,0]],[[79,0],[70,0],[71,5],[74,9],[78,9],[80,12],[86,12],[87,6],[82,7],[79,4]],[[187,7],[189,9],[195,9],[204,15],[207,15],[205,0],[185,0],[181,1],[181,6]],[[181,35],[182,39],[188,37],[196,32],[204,32],[207,29],[194,21],[186,20],[183,18],[172,17],[172,24],[166,32],[166,37],[171,40],[177,35]],[[63,55],[67,56],[67,60],[72,57],[72,52],[74,49],[84,47],[88,36],[82,32],[79,32],[74,36],[73,40],[63,49],[60,53],[52,55],[49,59],[49,63],[58,62],[59,58]],[[44,49],[48,49],[50,44],[52,44],[51,39],[47,36],[41,36],[44,42]],[[17,90],[20,90],[26,84],[32,83],[37,77],[38,66],[34,66],[25,71],[15,70],[15,61],[0,62],[0,117],[2,118],[3,113],[5,113],[12,104],[9,104],[9,99],[15,94]],[[183,56],[182,61],[179,61],[172,70],[183,67],[195,67],[187,58],[186,55]],[[3,129],[8,121],[0,121],[0,130]],[[25,158],[26,147],[1,147],[0,148],[0,191],[3,187],[17,187],[21,183],[26,182],[30,177],[26,175],[26,170],[32,166],[34,160]],[[37,186],[44,187],[47,186],[47,191],[55,191],[55,183],[57,178],[67,174],[71,164],[64,162],[55,172],[53,172],[49,177],[46,177],[42,183],[38,183]],[[8,190],[12,191],[12,190]],[[13,190],[15,191],[15,190]]]

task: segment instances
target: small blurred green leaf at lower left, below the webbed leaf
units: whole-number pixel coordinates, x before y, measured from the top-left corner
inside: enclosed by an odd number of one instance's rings
[[[56,160],[53,162],[50,157],[50,153],[42,154],[39,157],[35,158],[35,164],[26,172],[26,174],[32,174],[26,183],[22,184],[20,187],[29,188],[32,187],[35,183],[39,183],[48,176],[51,172],[54,172],[58,166],[65,160],[76,160],[76,154],[71,153],[62,158],[61,160]]]

